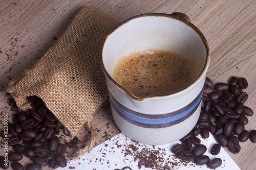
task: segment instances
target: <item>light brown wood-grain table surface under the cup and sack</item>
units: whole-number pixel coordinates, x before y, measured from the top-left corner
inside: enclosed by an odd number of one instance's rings
[[[207,76],[214,83],[228,82],[232,76],[245,77],[249,87],[246,106],[256,111],[256,1],[88,1],[88,0],[2,0],[0,3],[0,116],[11,118],[13,108],[7,105],[7,85],[30,68],[66,30],[75,14],[93,5],[113,18],[151,12],[183,12],[205,35],[210,49]],[[256,129],[256,116],[248,117],[245,129]],[[113,122],[110,106],[105,102],[95,113],[96,143],[119,133]],[[80,133],[83,135],[83,133]],[[2,140],[2,139],[1,139]],[[241,169],[256,169],[256,143],[240,142],[241,152],[225,150]],[[2,143],[1,143],[2,145]],[[1,153],[3,149],[1,148]],[[69,158],[71,159],[71,158]],[[23,163],[26,163],[23,161]],[[25,164],[24,163],[24,164]],[[48,169],[48,168],[44,168]]]

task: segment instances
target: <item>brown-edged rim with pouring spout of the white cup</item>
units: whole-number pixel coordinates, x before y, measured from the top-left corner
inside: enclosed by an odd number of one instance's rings
[[[123,87],[122,85],[120,85],[117,81],[115,81],[113,79],[112,76],[110,76],[109,72],[106,70],[105,66],[104,66],[104,63],[103,63],[103,48],[104,48],[104,44],[105,44],[105,41],[108,39],[108,37],[114,33],[118,28],[120,28],[121,26],[123,26],[125,23],[131,21],[131,20],[134,20],[134,19],[137,19],[137,18],[141,18],[141,17],[148,17],[148,16],[159,16],[159,17],[168,17],[168,18],[172,18],[172,19],[176,19],[176,20],[179,20],[181,22],[183,22],[186,26],[190,27],[191,29],[193,29],[197,34],[198,36],[201,38],[204,46],[205,46],[205,50],[206,50],[206,60],[205,60],[205,63],[204,63],[204,66],[203,66],[203,69],[202,71],[200,72],[200,74],[198,75],[198,77],[193,81],[191,82],[188,86],[176,91],[176,92],[173,92],[173,93],[167,93],[167,94],[158,94],[158,95],[150,95],[150,96],[145,96],[143,98],[139,98],[137,96],[135,96],[133,93],[131,93],[128,89],[126,89],[125,87]],[[182,19],[182,18],[179,18],[179,17],[175,17],[171,14],[166,14],[166,13],[146,13],[146,14],[140,14],[140,15],[136,15],[136,16],[133,16],[133,17],[130,17],[128,19],[125,19],[124,21],[122,21],[121,23],[119,23],[104,39],[104,42],[103,42],[103,45],[102,45],[102,48],[101,48],[101,56],[100,56],[100,64],[101,64],[101,67],[102,67],[102,70],[105,74],[106,77],[108,77],[108,79],[114,84],[116,85],[117,87],[119,87],[120,89],[122,89],[124,92],[126,92],[130,98],[132,98],[133,100],[136,100],[136,101],[143,101],[143,100],[146,100],[146,99],[154,99],[154,98],[162,98],[162,97],[167,97],[167,96],[173,96],[173,95],[177,95],[179,93],[182,93],[182,92],[185,92],[187,91],[188,89],[190,88],[193,88],[198,82],[199,80],[201,79],[201,77],[203,77],[203,75],[206,73],[207,71],[207,68],[209,66],[209,61],[210,61],[210,53],[209,53],[209,45],[208,45],[208,42],[206,40],[206,38],[204,37],[203,33],[195,26],[193,25],[193,23],[185,20],[185,19]]]

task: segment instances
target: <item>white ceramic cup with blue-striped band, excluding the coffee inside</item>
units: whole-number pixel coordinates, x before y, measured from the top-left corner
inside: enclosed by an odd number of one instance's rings
[[[146,49],[195,59],[196,80],[175,93],[137,98],[113,79],[113,69],[122,56]],[[145,144],[166,144],[181,139],[197,124],[209,48],[185,14],[142,14],[123,21],[105,39],[101,65],[115,123],[127,137]]]

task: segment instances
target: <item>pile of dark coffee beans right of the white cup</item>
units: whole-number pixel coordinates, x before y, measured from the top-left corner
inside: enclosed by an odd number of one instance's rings
[[[222,164],[220,158],[210,160],[206,147],[197,137],[208,138],[209,133],[214,135],[218,143],[215,143],[210,153],[218,155],[221,147],[227,147],[231,153],[237,154],[241,147],[239,142],[245,142],[249,138],[256,142],[256,130],[245,130],[248,124],[247,116],[253,115],[253,110],[245,106],[248,94],[243,90],[248,87],[245,78],[232,77],[229,83],[214,83],[206,77],[201,114],[197,125],[185,137],[180,139],[182,144],[176,144],[172,152],[181,160],[191,161],[198,165],[206,164],[215,169]],[[194,145],[194,147],[193,147]]]

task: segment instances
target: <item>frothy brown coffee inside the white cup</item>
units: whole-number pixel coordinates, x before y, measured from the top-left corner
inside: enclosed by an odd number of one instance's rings
[[[113,78],[139,98],[174,93],[197,77],[195,60],[164,50],[143,50],[119,59]]]

